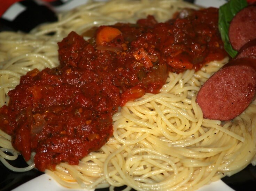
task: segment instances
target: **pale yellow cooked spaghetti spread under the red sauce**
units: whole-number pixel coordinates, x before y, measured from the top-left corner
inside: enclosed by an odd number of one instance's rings
[[[149,14],[165,21],[184,7],[196,8],[176,0],[90,2],[60,13],[58,22],[29,34],[0,33],[1,106],[8,103],[7,93],[21,75],[33,68],[57,66],[57,42],[70,31],[83,34],[93,26],[134,23]],[[61,163],[46,173],[68,188],[127,185],[127,190],[196,190],[250,163],[255,165],[256,102],[231,122],[203,119],[195,103],[200,86],[227,61],[210,62],[198,72],[169,73],[161,93],[147,93],[113,116],[114,136],[100,150],[81,159],[79,165]],[[14,160],[18,153],[1,130],[0,147],[0,160],[11,170],[33,168],[33,155],[27,168],[8,165],[6,159]]]

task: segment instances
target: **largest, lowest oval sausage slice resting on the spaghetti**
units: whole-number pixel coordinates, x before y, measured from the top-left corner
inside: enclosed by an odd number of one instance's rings
[[[233,59],[200,88],[196,102],[207,119],[228,121],[241,114],[256,91],[256,60]]]

